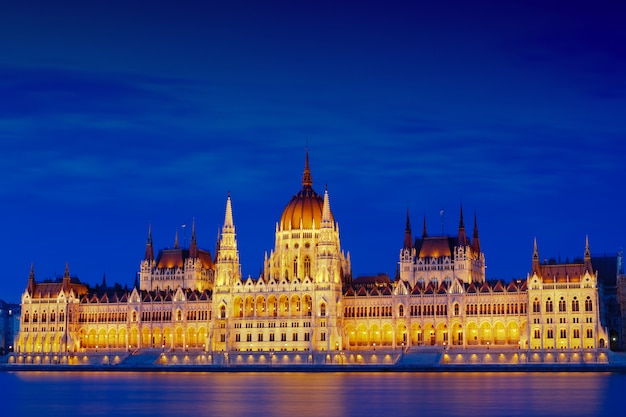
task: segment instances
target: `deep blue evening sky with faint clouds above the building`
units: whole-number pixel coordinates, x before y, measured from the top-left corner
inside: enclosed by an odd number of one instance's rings
[[[416,234],[476,212],[489,278],[534,237],[626,243],[623,2],[335,3],[3,4],[0,298],[31,263],[131,285],[149,223],[213,252],[228,191],[258,275],[307,140],[357,276],[393,276],[407,207]]]

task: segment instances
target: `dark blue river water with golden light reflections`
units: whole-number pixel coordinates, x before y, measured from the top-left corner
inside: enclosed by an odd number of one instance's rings
[[[8,416],[556,417],[623,409],[626,375],[5,372],[0,387]]]

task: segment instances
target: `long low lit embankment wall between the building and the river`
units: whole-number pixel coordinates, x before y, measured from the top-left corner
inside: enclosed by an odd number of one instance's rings
[[[594,371],[626,372],[626,353],[609,350],[137,351],[17,354],[4,371]]]

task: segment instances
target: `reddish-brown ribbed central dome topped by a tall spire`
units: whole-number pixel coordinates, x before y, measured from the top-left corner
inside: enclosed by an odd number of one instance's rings
[[[280,217],[280,230],[298,230],[319,228],[322,223],[322,209],[324,198],[313,190],[313,180],[309,169],[309,153],[306,154],[302,189],[291,198],[283,215]],[[332,213],[330,214],[333,219]],[[302,224],[300,224],[302,223]]]

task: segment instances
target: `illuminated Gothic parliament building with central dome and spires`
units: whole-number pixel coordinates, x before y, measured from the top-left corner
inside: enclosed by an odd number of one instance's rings
[[[461,210],[456,235],[430,236],[424,226],[414,238],[407,213],[394,279],[353,279],[307,152],[302,188],[259,277],[241,276],[229,194],[214,254],[198,247],[194,225],[188,247],[176,239],[155,256],[149,230],[132,289],[92,288],[67,266],[62,278],[38,282],[31,268],[15,352],[607,348],[588,240],[571,263],[541,262],[535,241],[525,279],[488,281],[475,216],[472,229]]]

